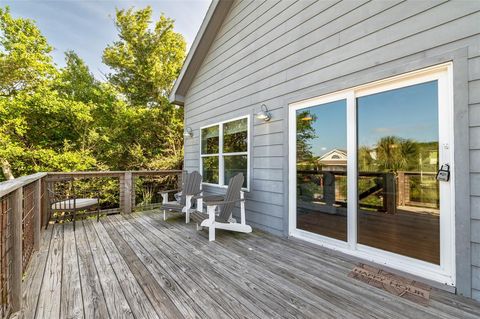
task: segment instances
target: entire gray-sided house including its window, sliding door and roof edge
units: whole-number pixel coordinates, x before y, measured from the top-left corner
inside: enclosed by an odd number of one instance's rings
[[[479,20],[479,1],[214,0],[170,97],[185,168],[216,194],[243,172],[254,228],[480,300]]]

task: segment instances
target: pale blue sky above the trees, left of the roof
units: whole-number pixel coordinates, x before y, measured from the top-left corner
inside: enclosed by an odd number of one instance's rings
[[[185,37],[188,47],[202,24],[211,0],[56,0],[26,1],[0,0],[8,5],[13,16],[30,18],[37,22],[42,33],[55,50],[55,63],[63,66],[64,52],[74,50],[100,80],[108,73],[102,64],[103,49],[117,39],[113,23],[115,8],[135,6],[153,8],[153,19],[163,12],[175,19],[175,30]]]

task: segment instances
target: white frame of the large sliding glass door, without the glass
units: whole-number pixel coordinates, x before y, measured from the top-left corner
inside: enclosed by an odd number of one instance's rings
[[[451,62],[405,73],[358,87],[289,105],[289,235],[383,264],[445,285],[455,286],[455,176],[453,139],[453,64]],[[450,181],[440,183],[440,265],[369,247],[357,241],[357,106],[356,98],[410,85],[438,81],[439,164],[450,164]],[[296,225],[296,111],[347,100],[347,241],[297,229]]]

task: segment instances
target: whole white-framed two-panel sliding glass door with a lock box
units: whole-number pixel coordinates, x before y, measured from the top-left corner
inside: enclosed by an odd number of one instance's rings
[[[290,235],[454,284],[450,67],[290,106]]]

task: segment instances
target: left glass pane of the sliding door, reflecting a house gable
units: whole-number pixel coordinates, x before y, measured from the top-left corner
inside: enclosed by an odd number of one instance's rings
[[[347,240],[346,100],[296,111],[297,229]]]

